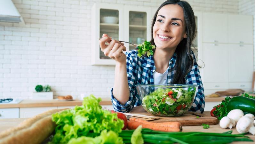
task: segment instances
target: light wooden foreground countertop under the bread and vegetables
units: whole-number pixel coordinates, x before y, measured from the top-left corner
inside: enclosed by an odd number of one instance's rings
[[[205,111],[204,114],[210,115],[210,111]],[[0,132],[18,125],[20,122],[25,120],[27,118],[8,118],[8,119],[0,119]],[[222,133],[222,132],[227,132],[230,131],[230,129],[222,129],[220,128],[219,124],[216,125],[210,125],[209,129],[203,129],[202,126],[182,126],[182,132],[217,132],[217,133]],[[236,131],[236,127],[232,128],[233,133],[232,134],[238,134]],[[232,144],[254,144],[255,143],[255,136],[252,134],[247,134],[246,136],[249,136],[250,139],[254,140],[253,142],[233,142]]]

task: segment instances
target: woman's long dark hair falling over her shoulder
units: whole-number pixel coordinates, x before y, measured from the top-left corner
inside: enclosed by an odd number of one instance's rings
[[[156,45],[153,39],[153,27],[156,22],[156,16],[158,11],[167,4],[178,4],[183,8],[184,18],[186,22],[186,32],[187,32],[187,38],[183,38],[182,41],[180,41],[180,44],[178,44],[175,52],[176,52],[176,62],[174,70],[176,71],[173,79],[172,84],[184,84],[185,83],[185,76],[188,74],[188,72],[191,70],[194,60],[191,56],[191,45],[193,40],[196,37],[196,20],[194,12],[191,8],[191,6],[186,1],[180,1],[180,0],[167,0],[163,4],[159,6],[157,9],[154,18],[152,20],[151,25],[151,45]],[[196,62],[196,61],[195,61]]]

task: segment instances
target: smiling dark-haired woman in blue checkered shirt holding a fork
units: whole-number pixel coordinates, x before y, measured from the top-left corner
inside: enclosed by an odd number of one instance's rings
[[[154,55],[140,58],[135,50],[126,54],[124,44],[107,34],[100,39],[104,54],[116,60],[112,103],[116,111],[130,112],[140,106],[136,84],[197,84],[199,85],[190,111],[204,112],[204,88],[192,41],[196,22],[191,6],[180,0],[167,0],[157,9],[151,26],[150,43]],[[112,40],[112,41],[111,41]],[[108,45],[105,42],[111,41]]]

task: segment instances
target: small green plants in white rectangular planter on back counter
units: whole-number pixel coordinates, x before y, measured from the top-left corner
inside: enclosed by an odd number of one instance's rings
[[[35,100],[52,100],[53,92],[51,92],[50,85],[36,85],[36,92],[33,92],[33,99]]]

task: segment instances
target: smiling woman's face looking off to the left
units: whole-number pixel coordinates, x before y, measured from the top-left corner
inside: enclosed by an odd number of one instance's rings
[[[156,16],[153,38],[157,48],[176,48],[187,38],[183,9],[178,4],[163,6]]]

